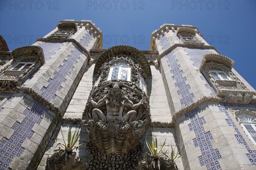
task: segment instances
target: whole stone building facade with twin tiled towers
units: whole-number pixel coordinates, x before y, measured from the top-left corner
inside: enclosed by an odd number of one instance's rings
[[[45,170],[69,130],[77,169],[134,170],[153,137],[180,170],[256,167],[256,92],[195,26],[105,50],[93,21],[61,20],[0,61],[1,170]]]

